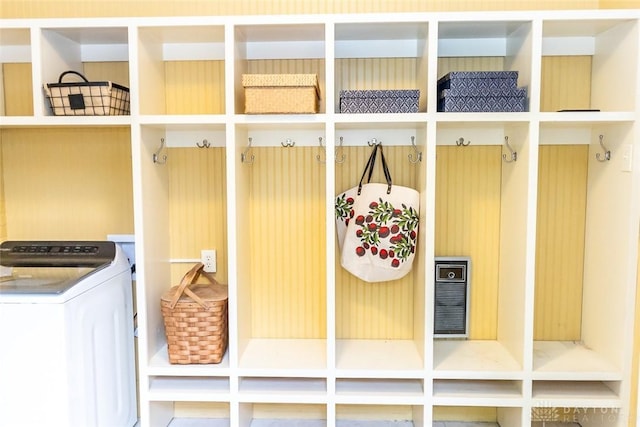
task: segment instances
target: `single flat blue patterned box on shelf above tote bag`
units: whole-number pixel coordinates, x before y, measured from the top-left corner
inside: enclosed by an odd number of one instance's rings
[[[420,90],[341,90],[341,113],[417,113]]]

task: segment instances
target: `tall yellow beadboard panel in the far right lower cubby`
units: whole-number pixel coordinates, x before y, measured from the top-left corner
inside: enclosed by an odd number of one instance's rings
[[[587,145],[539,150],[536,340],[581,339],[588,150]]]

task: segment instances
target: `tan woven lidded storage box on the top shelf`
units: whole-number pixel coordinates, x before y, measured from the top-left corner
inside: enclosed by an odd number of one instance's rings
[[[316,74],[243,74],[247,114],[317,113]]]

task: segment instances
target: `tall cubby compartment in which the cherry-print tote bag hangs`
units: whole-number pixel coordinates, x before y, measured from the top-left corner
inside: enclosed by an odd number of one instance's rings
[[[340,372],[376,377],[396,370],[407,375],[424,368],[425,266],[428,239],[426,126],[420,122],[341,123],[336,126],[335,192],[357,187],[371,153],[381,144],[394,185],[418,190],[420,225],[411,271],[387,282],[365,282],[341,266],[335,240],[335,358]],[[341,144],[341,145],[340,145]],[[379,156],[378,156],[379,157]],[[384,182],[380,159],[371,182]],[[420,227],[424,227],[421,229]]]

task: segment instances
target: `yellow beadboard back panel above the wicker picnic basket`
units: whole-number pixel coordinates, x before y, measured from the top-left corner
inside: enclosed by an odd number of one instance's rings
[[[171,258],[199,259],[202,249],[216,249],[215,277],[227,283],[225,148],[170,148],[167,157]],[[172,265],[172,283],[191,266]]]

